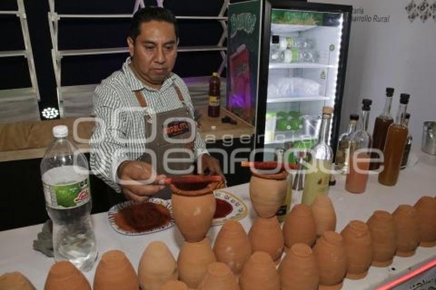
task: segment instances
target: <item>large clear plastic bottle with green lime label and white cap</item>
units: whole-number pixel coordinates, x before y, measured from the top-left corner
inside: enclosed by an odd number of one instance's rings
[[[48,215],[53,221],[55,260],[88,271],[97,257],[90,212],[88,161],[68,140],[68,127],[53,127],[54,140],[41,161]]]

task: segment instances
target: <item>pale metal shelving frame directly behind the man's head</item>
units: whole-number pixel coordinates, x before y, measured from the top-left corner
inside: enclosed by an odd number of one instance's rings
[[[22,1],[22,0],[21,0]],[[63,18],[131,18],[133,14],[58,14],[55,11],[55,0],[48,0],[50,11],[48,12],[48,21],[52,42],[52,60],[53,60],[53,68],[54,74],[56,78],[56,87],[57,87],[57,101],[59,106],[59,111],[61,117],[64,117],[64,98],[63,93],[65,90],[62,87],[61,83],[61,65],[62,58],[68,56],[79,56],[79,55],[96,55],[96,54],[116,54],[116,53],[126,53],[128,52],[127,47],[118,47],[118,48],[100,48],[100,49],[75,49],[75,50],[59,50],[58,49],[58,23]],[[158,5],[163,6],[163,0],[157,0]],[[226,50],[227,48],[224,46],[224,41],[227,38],[227,17],[224,16],[227,7],[229,4],[229,0],[224,0],[223,6],[221,8],[220,13],[217,16],[176,16],[177,19],[187,19],[187,20],[217,20],[220,22],[223,27],[223,33],[219,42],[215,46],[190,46],[190,47],[179,47],[177,49],[178,52],[195,52],[195,51],[219,51],[221,57],[223,59],[220,68],[218,69],[219,75],[222,74],[225,66],[226,66]],[[139,8],[143,8],[144,1],[136,0],[135,6],[133,8],[133,13],[135,13]],[[96,85],[90,85],[85,88],[95,88]],[[68,92],[74,93],[74,88],[77,87],[77,92],[83,93],[84,86],[69,86]],[[90,92],[92,94],[92,92]]]

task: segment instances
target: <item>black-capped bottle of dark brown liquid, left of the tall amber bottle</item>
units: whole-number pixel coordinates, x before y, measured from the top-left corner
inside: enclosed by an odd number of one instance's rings
[[[372,131],[372,149],[379,149],[383,152],[385,148],[386,134],[388,128],[393,123],[393,118],[390,115],[390,107],[392,103],[393,88],[386,88],[386,100],[383,113],[375,118],[374,130]],[[371,153],[371,158],[380,158],[378,153]],[[369,164],[370,170],[377,170],[380,168],[380,162],[371,162]]]

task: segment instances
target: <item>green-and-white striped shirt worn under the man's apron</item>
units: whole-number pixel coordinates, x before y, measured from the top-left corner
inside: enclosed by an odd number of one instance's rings
[[[93,113],[96,126],[90,140],[90,165],[95,175],[103,179],[116,192],[116,169],[125,160],[137,160],[146,149],[145,112],[155,113],[181,108],[173,84],[180,89],[186,106],[193,117],[193,105],[185,82],[176,74],[164,80],[159,90],[143,84],[130,69],[130,57],[120,71],[112,73],[97,86],[93,95]],[[141,108],[134,91],[142,90],[147,108]],[[194,155],[207,153],[199,132],[194,142]]]

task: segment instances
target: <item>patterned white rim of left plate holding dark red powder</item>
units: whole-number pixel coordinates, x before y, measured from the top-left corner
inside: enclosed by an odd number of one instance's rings
[[[172,227],[174,225],[174,219],[173,219],[173,215],[172,215],[171,200],[165,200],[165,199],[161,199],[161,198],[152,197],[152,198],[148,199],[147,202],[162,204],[163,206],[165,206],[165,208],[167,208],[167,210],[170,212],[171,220],[166,225],[164,225],[164,226],[156,227],[156,228],[148,230],[148,231],[143,231],[143,232],[127,232],[127,231],[121,229],[115,223],[115,214],[118,213],[120,210],[122,210],[124,208],[127,208],[127,206],[130,206],[130,205],[135,203],[134,201],[128,200],[128,201],[125,201],[125,202],[122,202],[122,203],[115,204],[108,211],[108,219],[109,219],[110,225],[112,226],[112,229],[114,229],[116,232],[118,232],[120,234],[123,234],[123,235],[139,236],[139,235],[152,234],[152,233],[164,231],[164,230],[167,230],[167,229],[169,229],[170,227]]]

